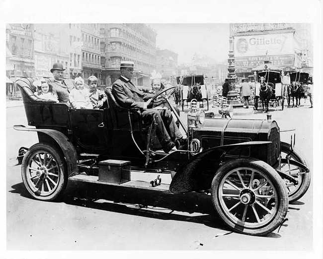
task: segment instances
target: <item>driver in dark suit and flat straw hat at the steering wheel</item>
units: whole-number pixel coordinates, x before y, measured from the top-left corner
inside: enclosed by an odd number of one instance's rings
[[[177,149],[183,149],[187,140],[176,126],[169,110],[164,110],[164,120],[161,113],[156,109],[151,109],[151,99],[153,94],[144,93],[139,90],[130,80],[134,73],[134,63],[122,61],[120,64],[121,76],[112,85],[112,93],[118,104],[124,108],[140,108],[144,121],[151,123],[155,118],[157,125],[156,135],[165,153],[168,153],[176,143]]]

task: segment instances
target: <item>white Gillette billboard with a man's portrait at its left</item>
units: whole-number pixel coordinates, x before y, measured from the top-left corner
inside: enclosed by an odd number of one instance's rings
[[[293,54],[293,40],[293,33],[237,36],[234,38],[235,57]]]

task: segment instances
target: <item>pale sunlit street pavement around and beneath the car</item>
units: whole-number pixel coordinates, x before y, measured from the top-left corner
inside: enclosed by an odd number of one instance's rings
[[[265,237],[232,233],[204,194],[160,194],[70,182],[62,201],[34,200],[22,184],[15,157],[20,146],[36,143],[37,135],[13,130],[15,124],[26,125],[24,108],[16,101],[6,105],[8,250],[268,250],[291,252],[294,258],[312,251],[313,182],[299,201],[289,205],[288,221],[279,232]],[[300,108],[271,109],[270,114],[281,130],[296,129],[296,146],[313,172],[313,109],[308,107],[302,103]],[[236,118],[266,119],[262,111],[242,114]],[[181,118],[186,123],[185,113]],[[290,134],[282,132],[281,140],[290,142]]]

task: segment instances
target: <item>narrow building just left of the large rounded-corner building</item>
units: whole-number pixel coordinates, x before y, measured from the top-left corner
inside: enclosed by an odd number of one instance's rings
[[[101,59],[100,59],[100,26],[99,23],[81,24],[81,62],[82,78],[86,79],[90,75],[101,81]],[[76,54],[77,56],[78,54]]]

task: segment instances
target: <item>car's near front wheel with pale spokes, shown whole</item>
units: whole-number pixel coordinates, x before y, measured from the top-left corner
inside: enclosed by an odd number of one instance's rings
[[[213,205],[234,231],[266,235],[278,228],[288,195],[278,173],[263,161],[237,159],[221,166],[211,186]]]

